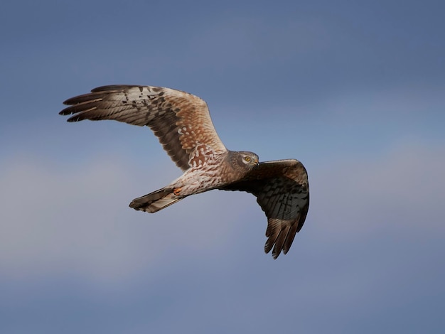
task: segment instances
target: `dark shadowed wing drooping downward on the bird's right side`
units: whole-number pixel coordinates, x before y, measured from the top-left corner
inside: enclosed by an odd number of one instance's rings
[[[267,242],[264,252],[272,250],[277,259],[291,248],[294,237],[309,209],[309,182],[306,168],[300,161],[278,160],[259,163],[242,181],[223,190],[252,193],[267,216]]]

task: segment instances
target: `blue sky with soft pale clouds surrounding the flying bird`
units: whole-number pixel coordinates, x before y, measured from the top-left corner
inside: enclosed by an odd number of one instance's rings
[[[443,1],[1,5],[1,333],[439,333],[445,328]],[[155,136],[68,124],[68,97],[159,85],[229,149],[297,158],[286,256],[252,195],[128,208],[180,175]]]

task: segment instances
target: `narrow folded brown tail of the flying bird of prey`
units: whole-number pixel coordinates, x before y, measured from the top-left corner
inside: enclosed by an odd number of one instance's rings
[[[168,207],[168,205],[172,205],[173,203],[176,203],[178,200],[182,199],[183,197],[178,197],[173,193],[173,188],[166,187],[139,198],[134,198],[129,206],[130,208],[134,208],[134,210],[153,213],[162,210],[163,208]]]

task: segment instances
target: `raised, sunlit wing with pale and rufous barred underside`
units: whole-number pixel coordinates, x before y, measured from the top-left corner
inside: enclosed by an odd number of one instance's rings
[[[201,154],[226,151],[215,131],[208,106],[199,97],[170,88],[113,85],[67,99],[59,114],[68,122],[114,119],[149,126],[163,149],[183,171]]]

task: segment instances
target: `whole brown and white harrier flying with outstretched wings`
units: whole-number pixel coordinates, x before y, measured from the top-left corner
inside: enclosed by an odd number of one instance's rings
[[[212,189],[252,193],[267,216],[264,251],[286,254],[309,208],[306,169],[297,160],[258,162],[255,153],[225,148],[207,104],[195,95],[163,87],[113,85],[67,99],[68,122],[114,119],[149,126],[183,175],[135,198],[130,207],[156,212],[189,195]]]

